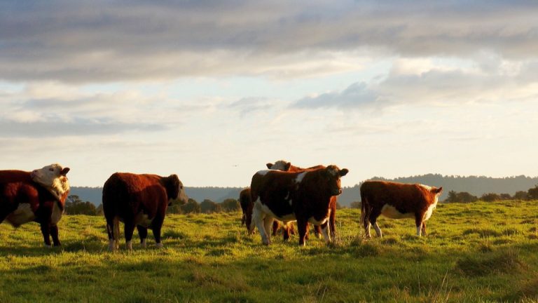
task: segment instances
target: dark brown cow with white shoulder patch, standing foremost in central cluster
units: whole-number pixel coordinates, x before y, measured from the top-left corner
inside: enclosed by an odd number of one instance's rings
[[[261,241],[270,245],[268,229],[277,219],[297,221],[299,245],[305,245],[308,223],[321,225],[326,243],[331,242],[327,222],[331,213],[331,196],[342,193],[340,177],[347,168],[327,166],[317,170],[290,173],[280,170],[261,170],[252,176],[251,201],[254,201],[250,229],[258,228]]]

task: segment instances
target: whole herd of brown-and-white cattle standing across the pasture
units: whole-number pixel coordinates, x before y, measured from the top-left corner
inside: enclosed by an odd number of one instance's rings
[[[294,233],[291,222],[296,222],[299,244],[308,239],[308,225],[322,234],[326,243],[336,236],[336,198],[342,193],[340,178],[347,168],[338,166],[312,166],[298,168],[287,161],[267,163],[251,179],[251,186],[240,193],[242,224],[249,234],[258,229],[261,241],[271,243],[282,222],[282,234],[287,240]],[[51,164],[32,172],[0,170],[0,222],[13,227],[27,222],[38,222],[46,246],[58,246],[57,222],[64,213],[69,194],[69,168]],[[361,219],[370,237],[373,225],[382,236],[377,218],[415,218],[417,235],[426,234],[426,221],[432,216],[442,187],[422,184],[401,184],[382,181],[365,181],[361,184]],[[186,203],[183,184],[177,175],[136,175],[114,173],[104,183],[103,211],[109,249],[119,248],[120,224],[123,222],[127,248],[132,250],[132,235],[138,230],[140,243],[146,247],[148,229],[153,231],[157,247],[162,247],[160,231],[171,201]]]

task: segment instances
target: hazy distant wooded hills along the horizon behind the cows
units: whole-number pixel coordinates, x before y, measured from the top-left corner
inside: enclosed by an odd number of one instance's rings
[[[443,176],[439,174],[417,175],[412,177],[398,177],[396,179],[385,179],[383,177],[373,177],[371,180],[385,180],[402,183],[420,183],[443,187],[441,200],[448,196],[448,191],[467,191],[474,196],[482,196],[486,193],[510,194],[516,191],[527,191],[538,184],[538,177],[526,177],[524,175],[515,177],[492,178],[484,176]],[[238,198],[243,187],[185,187],[187,196],[198,202],[209,199],[215,202],[222,202],[226,198]],[[71,195],[77,195],[82,201],[90,201],[96,206],[101,203],[102,187],[71,187]],[[338,203],[342,206],[350,206],[353,201],[360,201],[360,184],[353,187],[345,187],[343,193],[338,197]]]

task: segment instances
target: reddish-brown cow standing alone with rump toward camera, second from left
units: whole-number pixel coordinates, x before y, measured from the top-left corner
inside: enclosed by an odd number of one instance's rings
[[[106,231],[109,234],[109,250],[119,248],[120,221],[125,225],[127,249],[132,250],[135,227],[138,229],[142,247],[146,247],[148,228],[151,228],[157,247],[162,248],[160,229],[163,227],[167,207],[177,198],[181,203],[188,201],[177,175],[111,175],[103,186],[103,212]]]

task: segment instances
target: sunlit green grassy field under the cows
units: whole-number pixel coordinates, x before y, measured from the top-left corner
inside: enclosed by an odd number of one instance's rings
[[[62,248],[37,224],[0,225],[0,302],[536,302],[538,201],[439,205],[428,236],[339,210],[338,241],[261,245],[240,214],[171,215],[165,248],[107,252],[103,217],[64,216]],[[122,228],[123,229],[123,228]],[[375,231],[373,231],[375,234]],[[137,236],[137,235],[135,235]]]

